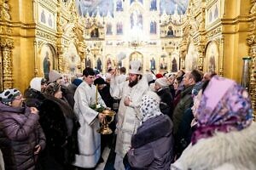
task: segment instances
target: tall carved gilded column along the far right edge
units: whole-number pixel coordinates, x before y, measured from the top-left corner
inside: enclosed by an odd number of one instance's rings
[[[249,55],[252,57],[250,68],[249,94],[253,104],[254,121],[256,118],[256,0],[251,0],[252,8],[250,10],[250,26],[249,35],[247,36],[247,44],[249,45]]]

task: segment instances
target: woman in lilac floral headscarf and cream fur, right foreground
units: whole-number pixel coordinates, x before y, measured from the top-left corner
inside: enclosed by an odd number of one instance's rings
[[[198,125],[191,144],[172,169],[256,169],[256,126],[247,91],[215,76],[202,92],[192,108]]]

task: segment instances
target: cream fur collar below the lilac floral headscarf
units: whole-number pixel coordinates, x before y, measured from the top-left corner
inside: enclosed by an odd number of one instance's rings
[[[236,169],[256,169],[256,123],[230,133],[216,133],[189,144],[172,169],[211,170],[230,164]]]

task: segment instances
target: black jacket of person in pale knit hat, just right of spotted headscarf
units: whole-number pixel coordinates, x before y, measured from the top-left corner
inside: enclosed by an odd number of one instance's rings
[[[160,96],[160,111],[172,119],[173,99],[169,88],[161,88],[156,94]]]

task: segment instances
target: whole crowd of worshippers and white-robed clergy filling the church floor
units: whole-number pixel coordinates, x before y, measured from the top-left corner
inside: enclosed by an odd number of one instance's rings
[[[112,134],[97,133],[106,115],[93,105],[117,113]],[[0,170],[93,170],[105,147],[116,170],[256,169],[250,96],[215,72],[143,74],[138,60],[0,93]]]

